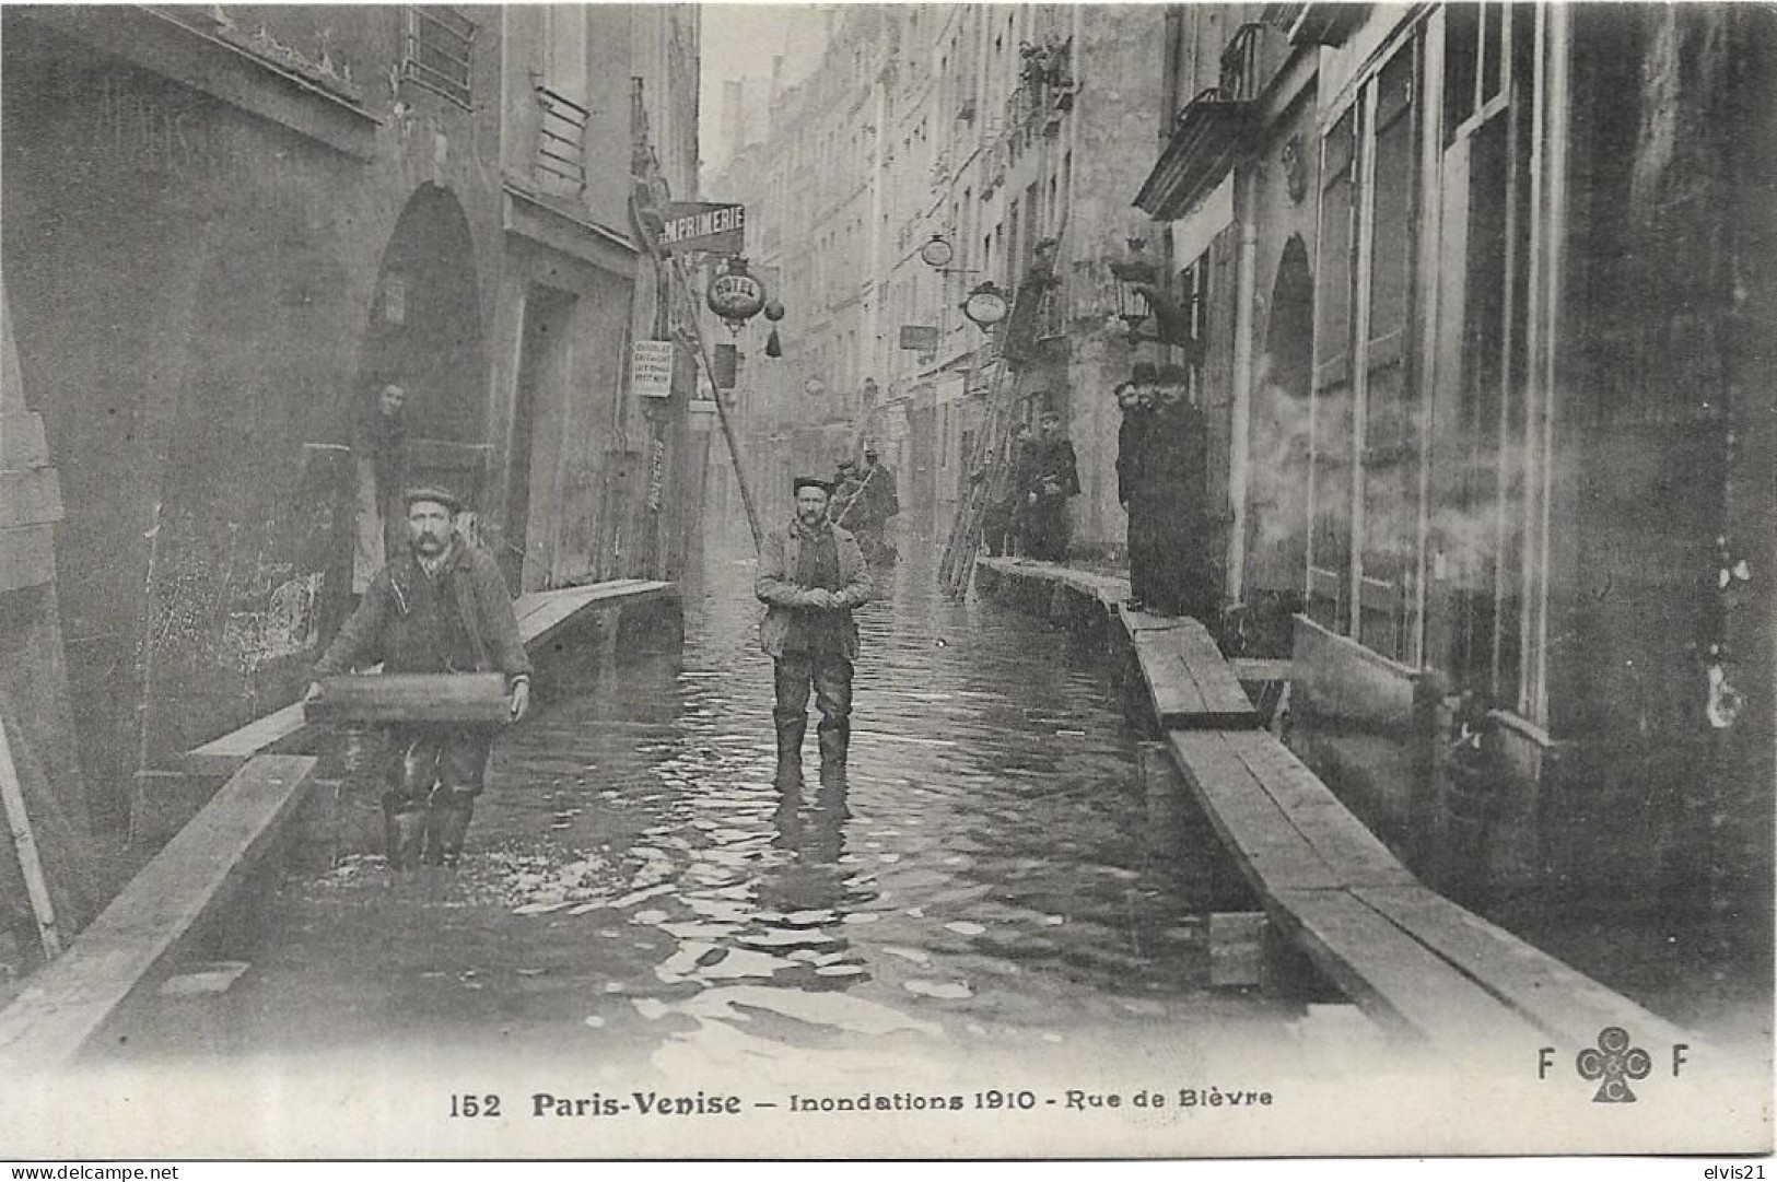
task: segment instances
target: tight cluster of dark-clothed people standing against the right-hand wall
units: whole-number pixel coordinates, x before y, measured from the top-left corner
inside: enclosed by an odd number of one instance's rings
[[[1214,622],[1221,606],[1208,503],[1208,421],[1183,366],[1137,363],[1116,387],[1118,499],[1128,512],[1130,606]]]

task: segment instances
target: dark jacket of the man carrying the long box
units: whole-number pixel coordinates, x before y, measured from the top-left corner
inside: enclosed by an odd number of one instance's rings
[[[386,674],[439,672],[421,654],[437,652],[435,638],[418,635],[410,603],[412,588],[426,572],[412,551],[402,555],[370,581],[357,611],[345,622],[315,667],[316,677],[343,674],[357,665],[382,661]],[[462,672],[499,672],[508,679],[528,677],[531,658],[519,636],[512,595],[492,555],[457,539],[444,558],[446,594],[457,619],[474,645],[476,667]]]

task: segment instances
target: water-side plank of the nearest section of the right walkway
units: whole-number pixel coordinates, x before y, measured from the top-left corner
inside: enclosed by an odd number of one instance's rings
[[[1278,922],[1393,1033],[1450,1049],[1539,1045],[1535,1026],[1352,894],[1281,890],[1278,903]]]

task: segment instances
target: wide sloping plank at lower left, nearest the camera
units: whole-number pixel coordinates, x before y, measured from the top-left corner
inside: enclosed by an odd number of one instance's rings
[[[247,882],[315,775],[309,755],[259,755],[156,853],[98,919],[0,1010],[0,1063],[66,1066],[144,978]]]

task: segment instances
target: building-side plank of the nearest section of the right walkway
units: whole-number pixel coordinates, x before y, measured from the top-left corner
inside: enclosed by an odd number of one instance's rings
[[[1606,1026],[1637,1040],[1697,1045],[1690,1034],[1578,969],[1425,887],[1359,887],[1352,894],[1491,994],[1571,1045]]]

